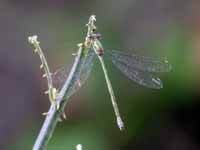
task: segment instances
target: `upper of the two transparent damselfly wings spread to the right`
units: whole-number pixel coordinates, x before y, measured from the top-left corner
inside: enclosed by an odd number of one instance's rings
[[[145,56],[128,54],[115,50],[105,51],[111,59],[127,64],[133,68],[148,72],[169,72],[171,65],[166,60],[159,60]]]

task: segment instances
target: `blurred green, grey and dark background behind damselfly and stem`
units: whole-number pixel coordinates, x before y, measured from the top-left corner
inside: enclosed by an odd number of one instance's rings
[[[0,149],[31,149],[49,108],[46,81],[27,37],[39,36],[52,72],[71,68],[84,40],[85,24],[97,16],[105,49],[168,59],[159,74],[164,88],[152,90],[106,65],[125,122],[115,123],[100,64],[71,97],[48,150],[199,150],[199,0],[1,0]]]

